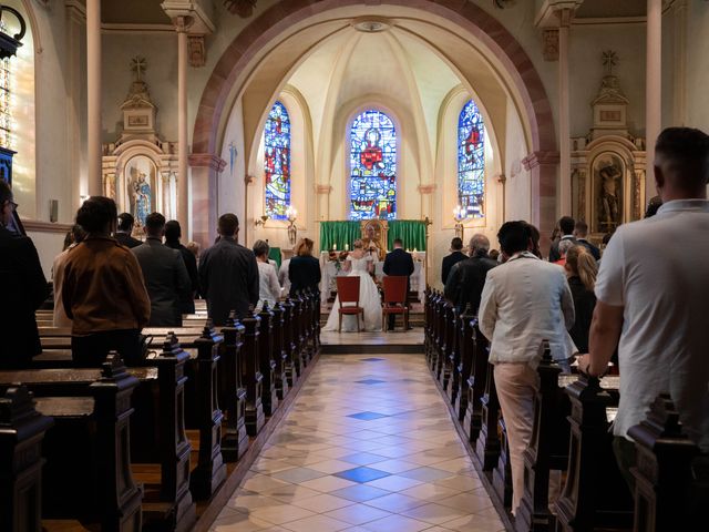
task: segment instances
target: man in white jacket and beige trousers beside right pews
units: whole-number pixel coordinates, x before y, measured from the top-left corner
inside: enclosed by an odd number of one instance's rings
[[[541,260],[525,222],[507,222],[497,233],[506,262],[487,272],[480,303],[480,330],[491,341],[490,362],[507,428],[512,466],[512,508],[524,492],[524,460],[534,422],[534,396],[543,340],[552,357],[568,358],[567,332],[574,301],[564,272]]]

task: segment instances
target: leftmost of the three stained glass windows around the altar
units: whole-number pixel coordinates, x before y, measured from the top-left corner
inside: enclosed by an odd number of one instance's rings
[[[264,130],[266,214],[286,219],[290,206],[290,117],[286,106],[274,103]]]

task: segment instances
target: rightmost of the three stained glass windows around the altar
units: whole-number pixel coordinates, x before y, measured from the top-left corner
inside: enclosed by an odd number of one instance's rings
[[[466,218],[485,216],[485,126],[472,100],[458,119],[458,202]]]

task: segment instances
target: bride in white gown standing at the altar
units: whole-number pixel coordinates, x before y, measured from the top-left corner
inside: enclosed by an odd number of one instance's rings
[[[363,329],[368,331],[381,330],[381,298],[379,297],[379,289],[370,276],[370,272],[372,272],[374,267],[374,258],[371,254],[364,252],[364,245],[360,239],[354,241],[353,248],[352,253],[347,256],[343,267],[346,270],[349,269],[347,274],[348,277],[358,276],[360,279],[359,306],[364,309]],[[328,323],[322,330],[338,329],[338,308],[340,308],[339,296],[335,299]],[[342,316],[342,331],[357,331],[357,316]]]

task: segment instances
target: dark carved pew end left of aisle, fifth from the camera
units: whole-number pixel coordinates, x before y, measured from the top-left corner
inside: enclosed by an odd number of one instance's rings
[[[222,329],[224,347],[219,358],[219,405],[226,412],[222,453],[228,462],[235,462],[248,448],[246,433],[246,388],[242,381],[242,365],[245,354],[243,338],[246,328],[233,310],[227,325]]]

